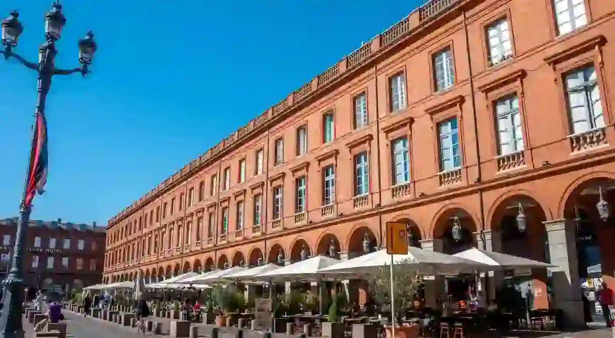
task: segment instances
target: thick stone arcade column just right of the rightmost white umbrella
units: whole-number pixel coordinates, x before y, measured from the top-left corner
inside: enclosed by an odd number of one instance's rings
[[[565,326],[585,326],[581,288],[579,286],[579,261],[576,252],[576,222],[560,219],[543,222],[549,238],[554,308],[563,311]]]

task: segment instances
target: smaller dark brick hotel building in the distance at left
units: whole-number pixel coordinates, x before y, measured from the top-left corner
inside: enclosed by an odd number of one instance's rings
[[[7,264],[14,250],[17,218],[0,220],[0,278],[6,278]],[[24,277],[26,286],[63,293],[100,283],[105,257],[105,228],[96,222],[73,224],[30,221],[26,234]]]

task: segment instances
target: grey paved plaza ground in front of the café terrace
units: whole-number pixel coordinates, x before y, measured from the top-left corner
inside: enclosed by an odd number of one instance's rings
[[[145,335],[137,333],[136,329],[119,326],[115,323],[108,321],[101,321],[95,318],[84,318],[83,315],[79,315],[74,312],[63,310],[66,318],[67,333],[69,337],[73,338],[137,338],[137,337],[155,337],[153,332],[147,332]],[[162,336],[168,336],[169,321],[166,318],[151,318],[154,321],[162,323]],[[592,325],[595,329],[589,329],[582,332],[570,332],[563,334],[555,334],[544,332],[543,334],[536,334],[535,332],[515,332],[506,336],[499,336],[501,338],[530,338],[530,337],[549,337],[549,338],[611,338],[613,334],[611,329],[600,328],[598,325]],[[33,337],[33,327],[31,324],[25,324],[26,337]],[[201,337],[205,337],[201,335]],[[498,337],[498,335],[490,336]]]

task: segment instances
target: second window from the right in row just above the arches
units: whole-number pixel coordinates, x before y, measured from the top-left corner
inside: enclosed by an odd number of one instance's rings
[[[523,150],[523,133],[517,95],[496,101],[499,154],[508,155]]]

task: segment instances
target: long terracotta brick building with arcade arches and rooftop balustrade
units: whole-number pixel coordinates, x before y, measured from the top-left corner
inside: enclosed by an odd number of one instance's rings
[[[534,307],[583,318],[580,281],[615,288],[614,32],[613,1],[428,2],[110,219],[103,278],[351,257],[404,221],[551,261]]]

